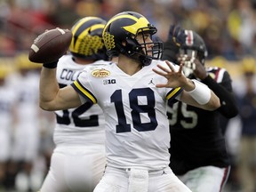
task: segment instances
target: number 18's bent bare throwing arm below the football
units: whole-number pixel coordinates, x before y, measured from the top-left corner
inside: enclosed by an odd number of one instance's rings
[[[39,85],[39,105],[49,111],[76,108],[81,105],[79,95],[70,85],[60,89],[56,79],[57,62],[43,65]]]

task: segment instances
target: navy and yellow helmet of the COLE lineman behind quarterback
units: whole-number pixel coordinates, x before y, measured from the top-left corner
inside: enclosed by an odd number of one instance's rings
[[[84,17],[71,28],[73,38],[69,51],[76,57],[92,60],[107,60],[102,39],[105,20],[98,17]]]

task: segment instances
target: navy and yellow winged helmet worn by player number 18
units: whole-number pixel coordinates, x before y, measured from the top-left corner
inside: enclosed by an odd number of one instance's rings
[[[110,19],[103,30],[103,40],[108,56],[118,56],[122,53],[132,59],[140,60],[142,65],[149,65],[151,60],[158,60],[162,56],[163,43],[146,43],[145,35],[156,34],[157,29],[137,12],[121,12]],[[139,44],[137,36],[143,36],[143,43]],[[147,45],[152,44],[148,49]],[[144,50],[144,51],[143,51]]]

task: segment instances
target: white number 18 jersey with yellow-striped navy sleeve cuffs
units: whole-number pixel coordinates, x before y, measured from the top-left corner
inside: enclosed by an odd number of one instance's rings
[[[150,170],[169,164],[166,100],[174,99],[182,89],[156,88],[156,84],[167,81],[152,70],[156,64],[167,66],[164,61],[153,60],[132,76],[115,63],[91,66],[84,68],[72,84],[84,100],[98,103],[103,109],[110,166]]]

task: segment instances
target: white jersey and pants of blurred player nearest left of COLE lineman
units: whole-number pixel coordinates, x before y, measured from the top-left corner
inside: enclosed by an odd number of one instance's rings
[[[17,122],[13,132],[12,159],[33,161],[38,156],[40,145],[39,73],[27,71],[14,75],[15,113]],[[12,76],[12,77],[14,77]]]

